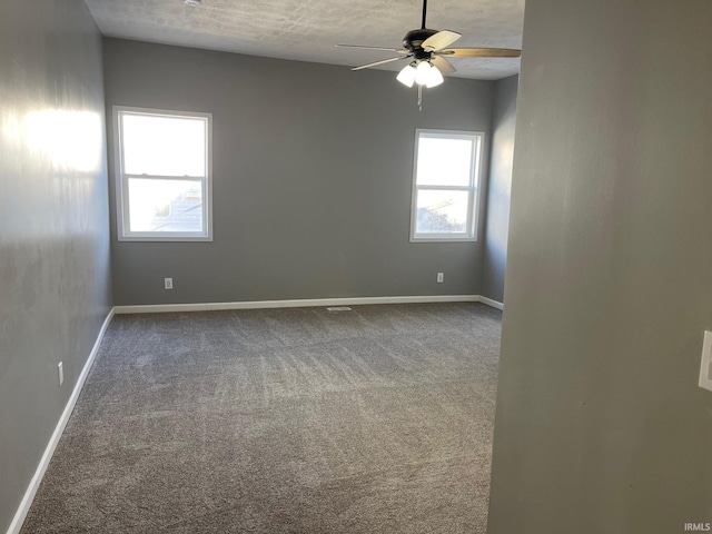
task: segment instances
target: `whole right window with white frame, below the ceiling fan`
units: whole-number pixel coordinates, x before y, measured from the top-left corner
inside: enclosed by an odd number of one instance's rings
[[[416,130],[412,241],[476,240],[483,139],[474,131]]]

